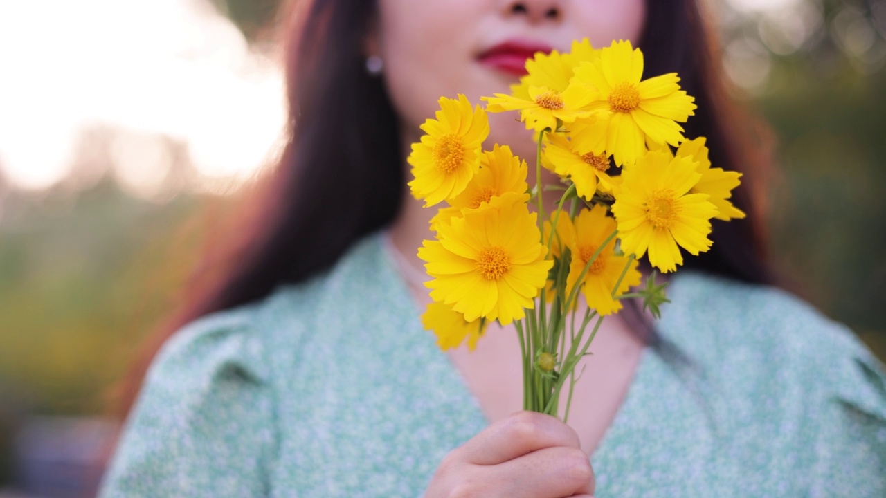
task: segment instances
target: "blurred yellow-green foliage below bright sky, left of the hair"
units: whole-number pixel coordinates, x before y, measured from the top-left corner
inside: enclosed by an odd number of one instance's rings
[[[43,413],[102,411],[194,264],[176,230],[193,205],[152,205],[109,184],[69,211],[20,199],[0,224],[0,385]]]

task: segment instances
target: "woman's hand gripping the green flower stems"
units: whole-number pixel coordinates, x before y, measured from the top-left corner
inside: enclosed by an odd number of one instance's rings
[[[451,451],[425,498],[563,498],[594,493],[579,435],[553,416],[517,412]]]

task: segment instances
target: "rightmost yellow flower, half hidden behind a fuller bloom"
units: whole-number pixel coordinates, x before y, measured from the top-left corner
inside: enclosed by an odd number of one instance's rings
[[[704,141],[703,136],[687,140],[677,149],[677,156],[695,160],[698,163],[696,171],[702,174],[702,179],[689,190],[689,193],[702,193],[711,196],[708,200],[717,207],[718,213],[715,218],[718,220],[728,222],[732,219],[744,218],[744,212],[727,200],[732,197],[732,190],[742,183],[739,180],[742,174],[737,171],[726,171],[722,167],[711,167],[708,148],[704,146]]]

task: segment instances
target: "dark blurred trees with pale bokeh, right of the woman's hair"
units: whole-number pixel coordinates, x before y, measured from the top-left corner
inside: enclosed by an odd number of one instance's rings
[[[776,261],[886,359],[886,0],[719,5],[727,74],[778,138]]]

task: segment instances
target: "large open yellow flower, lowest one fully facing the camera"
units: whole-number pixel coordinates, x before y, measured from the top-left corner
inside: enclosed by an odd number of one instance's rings
[[[439,225],[439,240],[425,240],[418,249],[433,277],[425,284],[431,299],[451,305],[466,321],[483,316],[503,325],[534,307],[553,261],[545,260],[528,198],[506,192]]]

